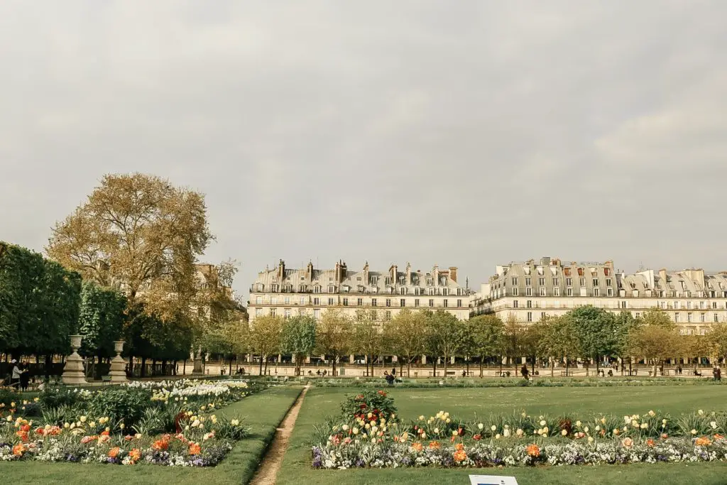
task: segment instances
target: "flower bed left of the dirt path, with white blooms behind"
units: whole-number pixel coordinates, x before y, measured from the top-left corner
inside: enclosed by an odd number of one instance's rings
[[[0,460],[216,465],[248,428],[215,409],[252,390],[240,380],[51,388],[0,404]]]

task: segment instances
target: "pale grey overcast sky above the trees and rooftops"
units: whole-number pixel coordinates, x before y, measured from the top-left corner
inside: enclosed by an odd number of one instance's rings
[[[727,270],[727,2],[0,2],[0,239],[108,172],[278,259]]]

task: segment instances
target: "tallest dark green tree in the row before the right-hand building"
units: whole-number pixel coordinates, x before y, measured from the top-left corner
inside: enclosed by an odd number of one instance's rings
[[[569,317],[579,340],[581,356],[585,357],[586,371],[590,359],[595,361],[598,370],[601,358],[614,355],[619,347],[614,314],[603,308],[585,305],[571,310]]]

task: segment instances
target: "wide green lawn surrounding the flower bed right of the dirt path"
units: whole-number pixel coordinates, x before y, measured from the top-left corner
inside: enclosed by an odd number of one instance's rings
[[[699,465],[603,465],[598,467],[505,468],[445,470],[399,468],[388,470],[313,470],[310,467],[310,433],[327,414],[336,414],[340,402],[355,389],[313,388],[305,397],[278,484],[467,484],[467,475],[510,475],[518,484],[715,484],[727,483],[727,463]],[[609,388],[440,388],[390,390],[402,420],[440,410],[458,417],[475,413],[529,414],[611,413],[643,414],[660,409],[670,414],[695,409],[727,409],[727,387],[650,386]]]

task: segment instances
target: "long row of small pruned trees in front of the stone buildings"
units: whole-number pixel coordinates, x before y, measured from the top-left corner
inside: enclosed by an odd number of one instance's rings
[[[668,358],[727,356],[727,324],[712,324],[706,335],[682,335],[656,308],[634,318],[630,312],[611,313],[590,305],[529,325],[494,315],[458,321],[441,310],[409,309],[381,321],[376,310],[359,310],[352,318],[333,308],[320,321],[309,316],[262,316],[238,341],[244,342],[238,353],[262,356],[261,366],[266,357],[285,354],[295,356],[300,369],[305,356],[322,355],[331,359],[334,372],[335,363],[349,354],[366,356],[367,369],[378,356],[397,356],[407,375],[421,356],[430,358],[434,370],[441,358],[445,375],[453,357],[477,360],[481,376],[486,361],[502,366],[503,361],[523,357],[533,365],[549,362],[553,372],[556,362],[567,366],[579,359],[586,367],[595,363],[598,369],[604,360],[634,356],[653,361],[656,372]]]

